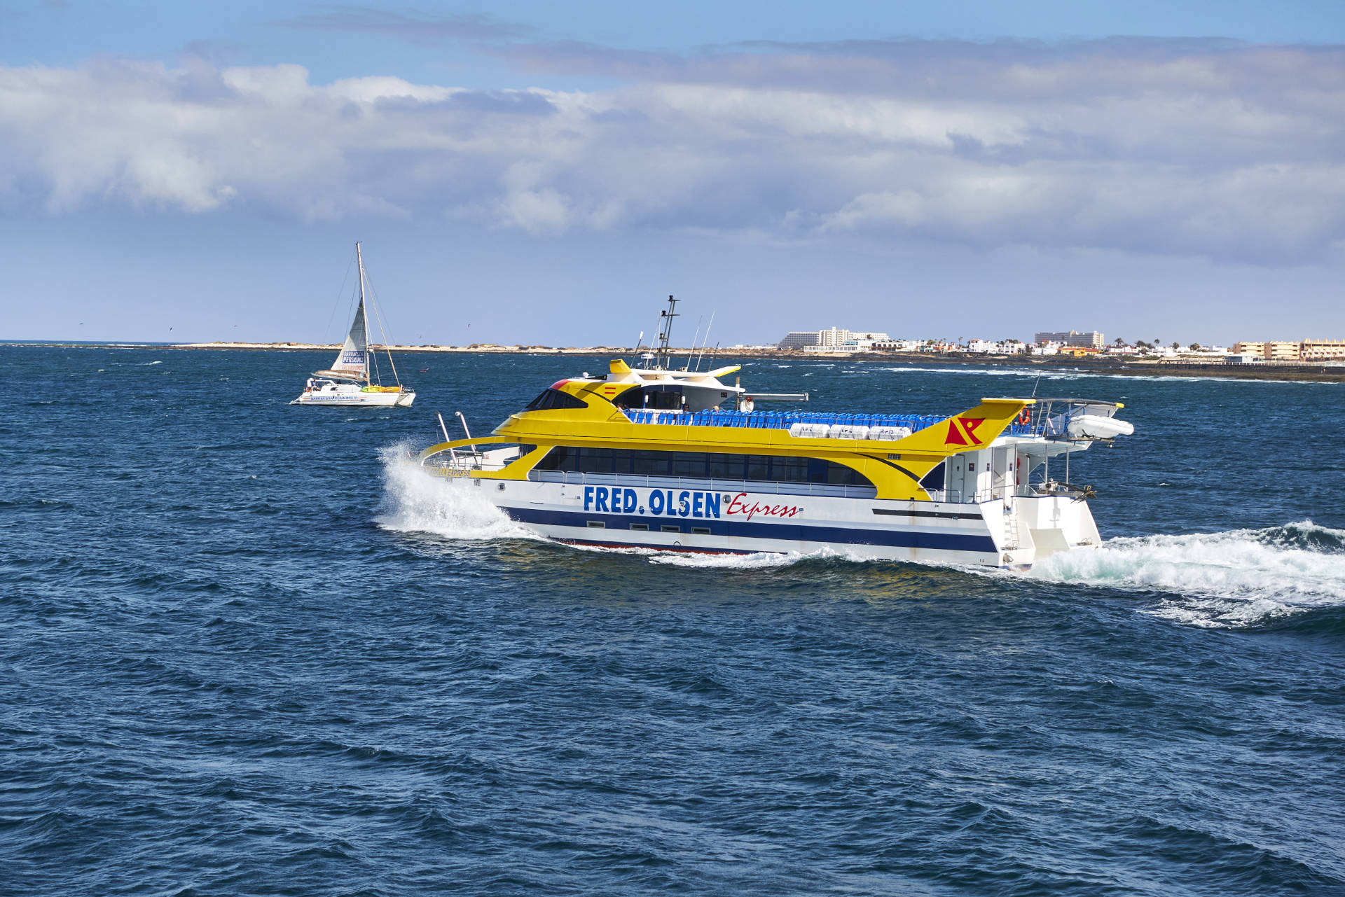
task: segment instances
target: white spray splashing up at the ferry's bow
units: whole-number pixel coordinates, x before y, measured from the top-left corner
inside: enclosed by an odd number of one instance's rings
[[[449,539],[535,539],[508,519],[472,480],[432,476],[409,444],[379,452],[383,461],[383,506],[374,522],[397,533],[432,533]]]

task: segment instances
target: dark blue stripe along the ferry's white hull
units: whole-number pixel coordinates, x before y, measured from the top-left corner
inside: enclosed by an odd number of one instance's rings
[[[589,520],[601,520],[607,530],[620,533],[631,523],[647,523],[650,533],[658,527],[677,523],[683,527],[701,527],[710,535],[737,537],[742,539],[776,539],[781,542],[834,542],[838,545],[881,545],[901,549],[936,549],[942,551],[975,551],[995,554],[995,541],[989,535],[970,533],[916,533],[913,530],[869,530],[842,526],[808,526],[803,523],[749,523],[746,520],[707,520],[702,518],[671,516],[629,516],[625,514],[590,514],[585,511],[550,511],[543,508],[522,508],[500,506],[500,510],[519,523],[539,523],[542,526],[573,526],[588,529]],[[594,527],[596,529],[596,527]],[[689,533],[689,530],[683,530]],[[671,534],[668,534],[671,535]]]

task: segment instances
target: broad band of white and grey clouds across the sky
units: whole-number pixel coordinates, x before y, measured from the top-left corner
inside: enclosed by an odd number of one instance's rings
[[[315,85],[300,66],[200,58],[0,67],[0,207],[449,215],[538,237],[687,230],[1259,264],[1345,246],[1340,47],[492,52],[624,83]]]

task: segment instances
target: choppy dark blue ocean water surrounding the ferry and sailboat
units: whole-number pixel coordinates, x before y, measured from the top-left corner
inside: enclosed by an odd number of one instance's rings
[[[530,538],[406,453],[603,359],[324,358],[0,347],[0,894],[1345,893],[1345,387],[744,364],[1126,402],[1021,576]]]

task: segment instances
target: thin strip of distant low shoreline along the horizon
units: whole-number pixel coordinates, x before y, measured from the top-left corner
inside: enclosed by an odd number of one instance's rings
[[[207,350],[207,351],[289,351],[289,352],[334,352],[339,343],[87,343],[73,340],[23,340],[0,343],[0,346],[22,347],[70,347],[70,348],[164,348],[164,350]],[[383,351],[383,346],[373,346]],[[473,343],[471,346],[391,346],[399,354],[460,354],[460,355],[613,355],[629,358],[635,350],[629,346],[498,346],[494,343]],[[682,347],[672,350],[674,356],[698,354],[699,350]],[[706,352],[706,360],[712,352]],[[1322,383],[1345,382],[1345,364],[1221,364],[1205,362],[1135,362],[1120,358],[1056,358],[1041,355],[970,355],[929,354],[929,352],[802,352],[776,348],[720,348],[717,359],[788,359],[791,362],[859,362],[859,363],[905,363],[905,364],[948,364],[956,367],[1026,367],[1044,371],[1079,371],[1087,374],[1115,374],[1120,377],[1219,377],[1225,379],[1252,381],[1307,381]],[[706,367],[713,367],[707,364]]]

